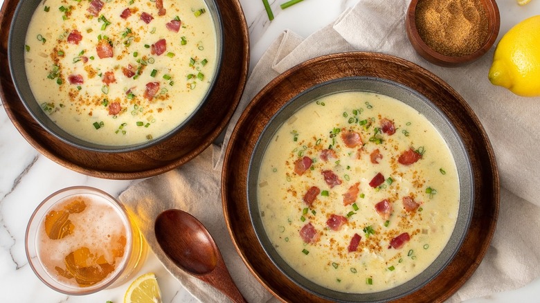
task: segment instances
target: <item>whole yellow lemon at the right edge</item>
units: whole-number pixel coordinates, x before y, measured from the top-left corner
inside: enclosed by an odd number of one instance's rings
[[[495,48],[489,81],[516,95],[540,95],[540,15],[508,30]]]

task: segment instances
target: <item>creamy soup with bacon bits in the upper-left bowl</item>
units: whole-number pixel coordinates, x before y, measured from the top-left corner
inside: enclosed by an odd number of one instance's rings
[[[202,0],[44,0],[26,35],[26,73],[59,127],[101,145],[145,143],[199,106],[217,39]]]

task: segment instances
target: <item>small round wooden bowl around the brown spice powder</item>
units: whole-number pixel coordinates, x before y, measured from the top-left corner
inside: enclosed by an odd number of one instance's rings
[[[439,66],[462,66],[474,62],[476,59],[487,53],[490,48],[492,48],[495,40],[497,39],[499,28],[501,27],[501,16],[498,12],[497,3],[494,0],[480,0],[480,2],[483,3],[488,17],[487,37],[484,44],[474,53],[462,56],[443,55],[435,51],[433,48],[428,46],[424,40],[422,40],[416,25],[416,8],[420,1],[424,0],[412,0],[411,4],[409,4],[405,17],[405,27],[408,39],[413,45],[413,48],[415,48],[416,52],[424,57],[424,59]]]

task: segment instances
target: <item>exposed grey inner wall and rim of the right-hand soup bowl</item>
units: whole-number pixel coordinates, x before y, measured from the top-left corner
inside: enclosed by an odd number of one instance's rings
[[[341,91],[369,91],[380,93],[382,95],[393,97],[413,107],[426,116],[433,126],[438,129],[444,140],[446,140],[458,168],[460,206],[456,228],[454,228],[447,246],[442,250],[439,257],[433,261],[433,264],[426,268],[424,272],[420,273],[420,275],[417,275],[405,284],[379,293],[342,293],[323,288],[322,286],[309,281],[283,261],[275,248],[273,248],[271,241],[268,239],[260,218],[257,201],[258,175],[262,157],[264,156],[264,152],[267,149],[271,138],[287,118],[292,116],[306,104],[312,102],[314,99],[321,98],[324,95],[330,95]],[[417,91],[390,80],[375,77],[345,77],[318,84],[317,86],[312,87],[312,89],[300,93],[295,98],[289,100],[289,102],[287,102],[271,118],[267,127],[262,131],[251,156],[248,171],[247,199],[251,223],[253,224],[255,234],[257,235],[262,248],[264,248],[264,251],[271,261],[273,261],[273,264],[275,264],[284,275],[289,277],[289,279],[298,286],[314,295],[335,302],[386,302],[388,300],[395,300],[399,297],[403,297],[422,288],[422,286],[436,277],[447,264],[449,264],[454,255],[456,255],[463,239],[465,239],[472,217],[474,208],[473,181],[469,155],[462,143],[462,139],[455,127],[453,127],[449,118],[435,107],[435,104],[427,100],[423,95],[420,95]]]

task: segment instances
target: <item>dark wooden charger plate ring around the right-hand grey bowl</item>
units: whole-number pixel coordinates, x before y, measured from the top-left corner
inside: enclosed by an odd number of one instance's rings
[[[361,52],[325,55],[282,73],[255,95],[226,148],[222,202],[228,231],[246,266],[273,295],[284,302],[327,302],[288,279],[260,246],[249,219],[247,174],[255,143],[287,101],[316,84],[354,76],[391,80],[424,95],[453,122],[469,154],[474,174],[474,210],[462,246],[431,282],[397,300],[443,302],[471,277],[489,247],[498,216],[498,171],[491,143],[467,102],[439,77],[404,59]]]

